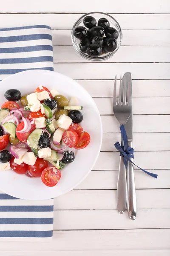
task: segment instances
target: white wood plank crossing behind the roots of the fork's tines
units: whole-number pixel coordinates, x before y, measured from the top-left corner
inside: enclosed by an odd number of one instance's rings
[[[112,93],[113,94],[113,93]],[[112,96],[112,95],[110,95]],[[113,99],[94,98],[101,115],[113,115]],[[170,98],[135,98],[133,97],[133,115],[170,114]]]

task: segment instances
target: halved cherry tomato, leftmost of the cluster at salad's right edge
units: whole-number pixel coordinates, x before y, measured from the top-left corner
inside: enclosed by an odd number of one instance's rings
[[[62,141],[68,148],[73,148],[79,140],[79,136],[75,131],[65,131],[62,134]]]

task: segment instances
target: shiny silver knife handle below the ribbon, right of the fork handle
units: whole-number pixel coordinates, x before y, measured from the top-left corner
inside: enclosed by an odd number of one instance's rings
[[[133,158],[130,158],[133,162]],[[136,219],[136,190],[133,164],[127,161],[127,212],[129,218],[134,221]]]

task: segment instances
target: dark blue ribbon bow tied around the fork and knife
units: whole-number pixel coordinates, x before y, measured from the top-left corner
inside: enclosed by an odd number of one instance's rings
[[[127,145],[127,134],[126,134],[125,126],[124,126],[124,125],[121,125],[121,126],[120,126],[120,131],[121,131],[122,139],[123,139],[123,142],[124,142],[124,146],[121,146],[121,145],[119,144],[119,141],[116,142],[114,145],[115,145],[115,148],[120,152],[120,156],[123,157],[123,160],[124,160],[126,169],[127,169],[127,161],[129,161],[130,163],[132,163],[133,165],[135,165],[136,167],[138,167],[139,169],[141,169],[143,172],[145,172],[145,173],[147,173],[148,175],[150,175],[150,176],[152,176],[152,177],[154,177],[154,178],[157,179],[157,177],[158,177],[157,174],[154,174],[154,173],[145,171],[144,169],[140,168],[139,166],[137,166],[136,164],[134,164],[134,163],[130,160],[130,157],[131,157],[131,158],[134,158],[134,156],[133,156],[133,148],[130,148],[130,147],[128,147],[128,145]]]

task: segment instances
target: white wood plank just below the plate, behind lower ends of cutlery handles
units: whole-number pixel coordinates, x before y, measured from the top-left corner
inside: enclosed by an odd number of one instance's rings
[[[170,189],[138,189],[136,198],[138,209],[170,209]],[[54,209],[117,209],[116,190],[74,190],[55,198]]]

